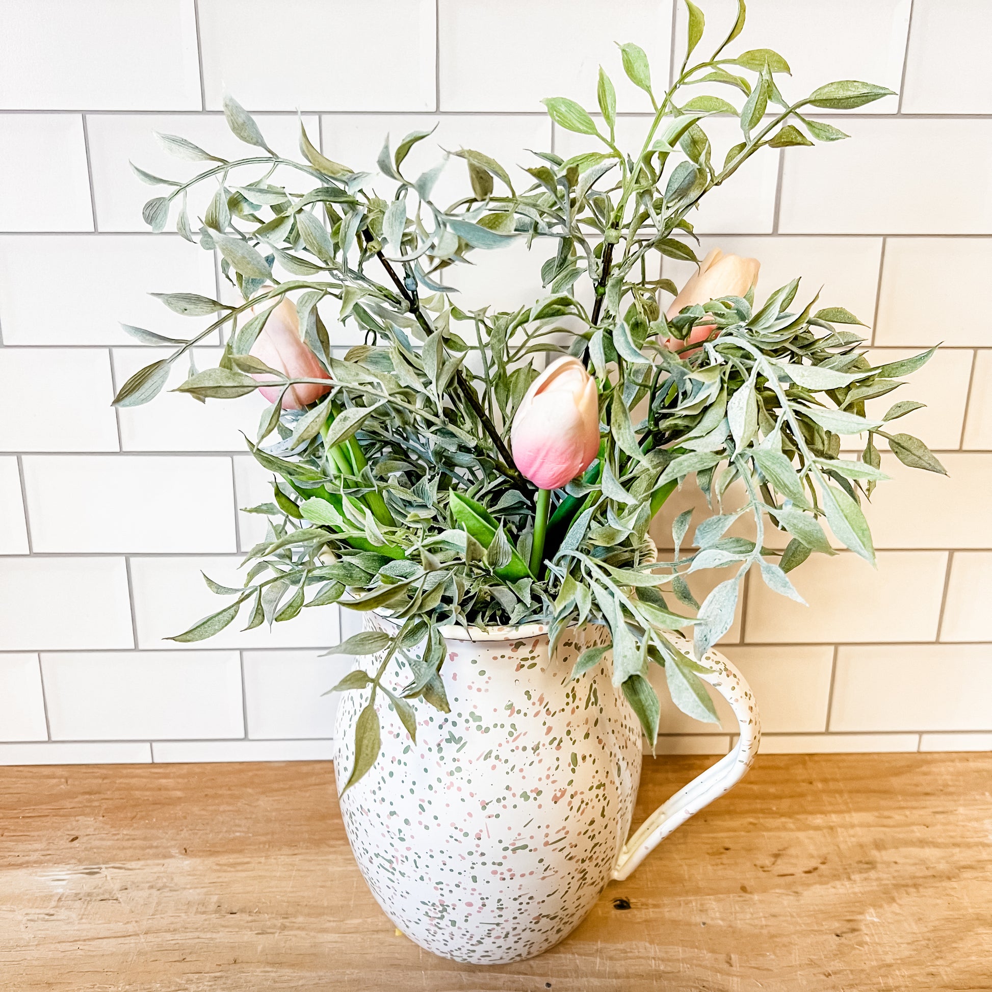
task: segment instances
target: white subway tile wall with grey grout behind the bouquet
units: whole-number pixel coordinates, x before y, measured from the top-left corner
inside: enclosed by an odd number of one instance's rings
[[[272,632],[233,626],[193,645],[164,640],[216,608],[200,571],[237,581],[239,553],[262,521],[236,508],[268,489],[238,433],[254,430],[260,398],[204,407],[164,393],[147,407],[110,407],[151,354],[118,321],[171,334],[189,318],[148,293],[224,292],[214,259],[142,222],[149,191],[128,160],[173,177],[195,169],[152,132],[236,154],[243,146],[219,113],[228,89],[290,154],[298,111],[325,154],[368,169],[386,132],[395,142],[436,124],[411,155],[415,168],[433,165],[440,148],[471,147],[523,186],[524,149],[568,155],[588,144],[556,132],[541,97],[594,107],[602,62],[624,114],[618,133],[638,135],[650,107],[624,79],[614,40],[645,48],[657,80],[669,77],[684,35],[671,0],[278,7],[292,47],[259,62],[245,38],[264,30],[271,0],[4,4],[0,183],[16,194],[0,201],[0,763],[332,751],[336,700],[321,693],[350,660],[321,651],[355,629],[353,614],[306,610]],[[704,7],[716,24],[734,4]],[[707,197],[702,250],[758,257],[759,298],[796,275],[809,293],[822,286],[824,306],[871,325],[879,360],[942,341],[914,377],[930,406],[902,423],[950,474],[910,472],[886,456],[896,481],[868,511],[877,571],[846,553],[810,560],[794,573],[809,607],[753,582],[723,648],[756,690],[768,752],[989,750],[992,332],[982,304],[992,268],[992,6],[752,0],[748,14],[731,52],[781,52],[796,70],[788,92],[847,77],[898,95],[825,115],[848,141],[759,154]],[[348,40],[370,25],[372,62],[368,45]],[[553,58],[537,58],[538,37],[556,40]],[[736,140],[732,120],[710,123],[716,145]],[[458,194],[460,170],[452,160],[442,196]],[[193,213],[205,205],[196,195]],[[452,272],[461,305],[531,303],[546,249],[518,245]],[[689,271],[664,267],[680,283]],[[353,332],[338,331],[336,343],[352,343]],[[221,343],[197,349],[200,367]],[[673,512],[690,498],[677,494]],[[695,577],[701,595],[709,579]],[[725,751],[736,726],[721,716],[720,727],[699,724],[666,703],[659,753]]]

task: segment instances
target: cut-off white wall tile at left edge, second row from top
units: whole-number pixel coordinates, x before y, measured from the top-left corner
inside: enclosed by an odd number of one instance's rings
[[[91,231],[82,117],[0,114],[0,186],[0,230]]]

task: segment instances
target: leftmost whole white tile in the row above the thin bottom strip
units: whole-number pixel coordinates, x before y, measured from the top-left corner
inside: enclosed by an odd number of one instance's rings
[[[235,651],[43,654],[53,740],[242,737]]]

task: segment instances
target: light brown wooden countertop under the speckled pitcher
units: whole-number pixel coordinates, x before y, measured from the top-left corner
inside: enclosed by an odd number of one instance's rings
[[[648,760],[638,818],[712,760]],[[990,790],[992,754],[759,757],[557,948],[480,967],[394,931],[329,764],[0,769],[0,988],[988,992]]]

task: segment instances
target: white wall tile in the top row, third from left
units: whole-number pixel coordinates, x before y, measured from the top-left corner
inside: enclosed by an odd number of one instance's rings
[[[668,83],[670,0],[503,0],[498,7],[440,0],[437,10],[442,110],[533,112],[543,109],[546,96],[568,96],[591,109],[602,63],[618,109],[650,111],[647,95],[624,75],[614,42],[637,42],[648,54],[655,88],[663,92]],[[539,38],[555,39],[554,56],[536,56]]]

